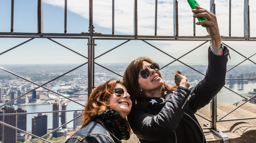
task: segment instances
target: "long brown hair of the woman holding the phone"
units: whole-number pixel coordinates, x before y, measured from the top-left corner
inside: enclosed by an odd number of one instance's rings
[[[144,97],[146,96],[145,93],[143,91],[140,91],[139,89],[138,81],[139,72],[143,67],[144,61],[150,64],[154,63],[153,60],[149,57],[138,57],[128,65],[123,74],[123,82],[125,83],[126,88],[132,91],[135,96],[136,102],[133,102],[133,104],[136,103],[142,107],[148,104],[144,99]],[[164,82],[162,88],[168,90],[175,90],[177,86],[172,86]]]

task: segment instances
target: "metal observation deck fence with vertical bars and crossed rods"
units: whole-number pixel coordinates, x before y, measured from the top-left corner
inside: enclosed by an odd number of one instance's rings
[[[149,45],[150,47],[160,51],[161,53],[163,53],[164,55],[166,56],[169,56],[170,58],[172,58],[173,60],[172,61],[169,61],[168,64],[166,64],[165,66],[163,66],[161,69],[165,68],[166,66],[174,63],[174,62],[180,62],[181,64],[187,66],[188,68],[202,74],[204,76],[204,74],[200,71],[198,71],[197,69],[193,68],[192,66],[182,62],[180,59],[184,56],[186,56],[187,54],[191,54],[194,50],[198,49],[199,47],[205,45],[208,41],[210,41],[210,37],[209,36],[196,36],[196,30],[195,30],[195,19],[194,19],[194,22],[193,22],[193,25],[194,25],[194,29],[193,29],[193,36],[179,36],[179,28],[178,28],[178,1],[177,0],[174,0],[173,1],[173,28],[174,28],[174,33],[173,33],[173,36],[158,36],[157,35],[157,15],[158,15],[158,0],[156,0],[155,2],[155,33],[154,33],[154,36],[149,36],[149,35],[138,35],[138,5],[137,5],[137,2],[138,0],[134,0],[134,34],[133,35],[115,35],[115,23],[114,23],[114,19],[115,19],[115,0],[112,0],[112,33],[111,34],[101,34],[101,33],[96,33],[94,32],[94,23],[93,23],[93,0],[89,0],[89,32],[82,32],[82,33],[67,33],[67,0],[65,0],[65,7],[64,7],[64,33],[43,33],[43,7],[42,7],[42,0],[38,0],[37,1],[37,15],[38,15],[38,19],[37,19],[37,33],[23,33],[23,32],[15,32],[14,31],[14,27],[13,27],[13,18],[14,18],[14,0],[11,0],[11,31],[10,32],[0,32],[0,39],[4,39],[4,38],[28,38],[29,40],[26,40],[2,53],[0,53],[0,56],[4,55],[5,53],[7,52],[10,52],[11,50],[15,49],[15,48],[18,48],[19,46],[23,45],[23,44],[26,44],[26,43],[29,43],[31,42],[32,40],[34,39],[48,39],[72,52],[74,52],[75,54],[87,59],[86,62],[84,62],[83,64],[75,67],[74,69],[70,70],[70,71],[67,71],[61,75],[59,75],[58,77],[56,78],[53,78],[52,80],[49,80],[48,82],[45,82],[43,84],[38,84],[38,83],[35,83],[31,80],[29,80],[28,78],[25,78],[21,75],[18,75],[17,73],[13,73],[12,71],[9,71],[7,69],[4,69],[2,67],[0,67],[1,70],[5,71],[5,72],[8,72],[14,76],[17,76],[18,78],[21,78],[29,83],[32,83],[34,85],[36,85],[37,87],[29,90],[28,92],[26,92],[25,94],[22,94],[21,96],[17,97],[17,98],[14,98],[13,100],[7,102],[7,103],[3,103],[2,105],[0,105],[0,108],[4,107],[5,105],[8,105],[9,103],[12,103],[14,102],[15,100],[25,96],[26,94],[42,87],[46,90],[49,90],[50,92],[54,93],[54,94],[57,94],[58,96],[62,96],[63,98],[66,98],[68,100],[71,100],[79,105],[84,106],[83,104],[69,98],[69,97],[66,97],[65,95],[62,95],[58,92],[55,92],[47,87],[45,87],[45,85],[53,82],[54,80],[60,78],[60,77],[63,77],[64,75],[72,72],[72,71],[75,71],[76,69],[84,66],[84,65],[87,65],[88,66],[88,96],[90,96],[90,93],[92,92],[92,89],[93,87],[95,87],[95,83],[94,83],[94,77],[95,77],[95,73],[94,73],[94,70],[95,70],[95,65],[98,65],[108,71],[111,71],[113,72],[114,74],[122,77],[122,74],[119,74],[117,73],[116,71],[112,71],[111,69],[108,69],[107,67],[105,66],[102,66],[100,63],[96,63],[95,62],[95,59],[111,52],[112,50],[115,50],[116,48],[128,43],[129,41],[134,41],[134,40],[139,40],[139,41],[143,41],[144,43],[146,43],[147,45]],[[210,11],[215,13],[215,3],[214,3],[214,0],[210,0]],[[228,71],[234,69],[235,67],[237,67],[238,65],[242,64],[244,61],[250,61],[251,63],[253,64],[256,64],[255,61],[251,60],[250,58],[253,57],[256,53],[255,53],[255,49],[252,49],[252,52],[251,53],[254,53],[252,54],[251,56],[244,56],[242,55],[241,53],[239,53],[237,50],[233,49],[231,46],[227,45],[225,43],[225,41],[246,41],[246,42],[251,42],[251,41],[256,41],[256,37],[250,37],[250,21],[249,21],[249,0],[244,0],[244,36],[243,37],[232,37],[231,36],[231,0],[229,0],[229,36],[222,36],[222,41],[224,43],[225,46],[227,46],[229,48],[229,50],[239,54],[240,56],[244,57],[245,59],[243,61],[241,61],[240,63],[238,63],[237,65],[235,65],[234,67],[232,67],[231,69],[228,69]],[[84,56],[83,54],[79,53],[79,52],[76,52],[75,50],[72,50],[71,48],[61,44],[60,42],[57,42],[56,40],[53,40],[53,39],[83,39],[83,40],[86,40],[88,46],[88,57],[87,56]],[[99,56],[96,56],[95,57],[95,46],[96,46],[96,41],[97,40],[124,40],[124,42],[122,42],[121,44],[115,46],[114,48],[112,48],[111,50],[99,55]],[[184,53],[182,56],[180,57],[175,57],[175,56],[172,56],[170,54],[168,54],[167,52],[165,52],[164,50],[161,50],[161,48],[158,48],[157,46],[154,46],[151,42],[149,41],[202,41],[202,44],[198,45],[197,47],[195,47],[194,49],[192,49],[191,51],[187,52],[187,53]],[[241,79],[226,79],[226,80],[255,80],[256,78],[241,78]],[[256,95],[253,95],[250,99],[247,99],[246,97],[240,95],[239,93],[235,92],[235,91],[232,91],[231,89],[229,89],[228,87],[224,86],[224,88],[230,90],[231,92],[237,94],[238,96],[241,96],[242,98],[246,99],[246,102],[251,102],[250,100],[252,98],[254,98]],[[246,103],[245,102],[245,103]],[[253,103],[253,102],[251,102]],[[243,103],[244,104],[244,103]],[[241,104],[240,106],[242,106],[243,104]],[[253,103],[255,104],[255,103]],[[234,110],[236,110],[237,108],[239,108],[240,106],[236,107]],[[207,119],[206,117],[202,117],[206,120],[208,120],[211,124],[210,126],[207,126],[207,127],[203,127],[203,129],[210,129],[212,131],[214,131],[217,135],[220,135],[222,138],[223,138],[223,142],[227,142],[228,141],[228,137],[223,134],[222,132],[217,132],[217,125],[216,123],[217,122],[223,122],[223,121],[230,121],[230,120],[245,120],[245,119],[256,119],[256,117],[246,117],[246,118],[239,118],[239,119],[223,119],[225,118],[226,116],[228,116],[230,113],[232,113],[234,110],[230,111],[227,115],[225,115],[224,117],[220,118],[220,119],[217,119],[217,96],[215,96],[213,99],[212,99],[212,102],[211,102],[211,119]],[[21,114],[36,114],[36,113],[57,113],[57,112],[71,112],[71,111],[81,111],[81,110],[62,110],[62,111],[46,111],[46,112],[30,112],[30,113],[10,113],[10,114],[0,114],[0,116],[9,116],[9,115],[21,115]],[[200,116],[200,115],[199,115]],[[80,116],[77,116],[75,119],[79,118]],[[18,129],[17,127],[14,127],[14,126],[11,126],[9,124],[6,124],[2,121],[0,121],[1,124],[5,125],[5,126],[8,126],[10,128],[13,128],[13,129],[16,129],[20,132],[23,132],[25,134],[28,134],[28,135],[31,135],[31,136],[34,136],[36,138],[38,138],[37,140],[39,139],[42,139],[46,142],[50,142],[46,139],[43,139],[43,137],[53,133],[54,131],[58,130],[59,128],[65,126],[66,124],[72,122],[73,120],[75,119],[72,119],[70,121],[68,121],[67,123],[61,125],[60,127],[56,128],[56,129],[53,129],[52,132],[49,132],[47,133],[46,135],[44,136],[36,136],[36,135],[32,135],[31,133],[28,133],[26,131],[23,131],[23,130],[20,130]],[[37,140],[33,141],[33,142],[36,142]]]

